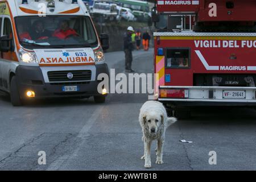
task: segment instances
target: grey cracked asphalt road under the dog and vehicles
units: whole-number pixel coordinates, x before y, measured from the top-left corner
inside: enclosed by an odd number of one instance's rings
[[[123,56],[106,53],[116,73],[123,72]],[[152,57],[152,49],[135,51],[135,71],[151,73]],[[138,114],[146,100],[146,94],[110,94],[105,104],[89,98],[13,107],[1,94],[0,169],[144,170]],[[150,170],[255,170],[255,118],[248,108],[196,108],[191,119],[167,129],[164,164],[154,163],[152,147]],[[39,151],[46,152],[45,165],[38,164]],[[217,164],[209,164],[209,151],[216,151]]]

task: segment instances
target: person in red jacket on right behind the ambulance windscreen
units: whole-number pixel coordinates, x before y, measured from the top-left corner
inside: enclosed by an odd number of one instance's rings
[[[63,20],[60,23],[60,28],[55,30],[52,36],[57,37],[59,39],[67,39],[71,38],[72,36],[79,36],[75,30],[69,27],[68,20]]]

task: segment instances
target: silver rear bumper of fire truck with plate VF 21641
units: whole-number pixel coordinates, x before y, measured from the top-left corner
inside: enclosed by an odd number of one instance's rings
[[[255,94],[256,87],[159,86],[158,101],[177,106],[256,106]]]

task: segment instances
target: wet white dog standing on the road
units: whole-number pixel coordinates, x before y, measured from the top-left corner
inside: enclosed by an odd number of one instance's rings
[[[157,140],[156,146],[156,164],[163,164],[163,144],[166,129],[177,121],[176,118],[167,117],[166,109],[163,104],[157,101],[145,102],[139,113],[139,123],[142,127],[144,142],[145,168],[151,168],[150,147],[152,140]]]

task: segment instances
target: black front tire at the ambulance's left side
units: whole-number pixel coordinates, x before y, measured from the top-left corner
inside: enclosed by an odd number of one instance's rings
[[[10,97],[11,97],[11,104],[13,106],[22,106],[22,100],[19,95],[18,86],[16,84],[16,77],[13,76],[11,78],[11,84],[10,84]]]

